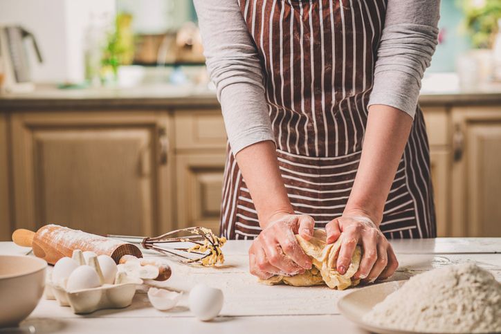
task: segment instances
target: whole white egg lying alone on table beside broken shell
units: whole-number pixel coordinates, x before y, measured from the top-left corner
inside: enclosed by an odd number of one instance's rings
[[[197,284],[190,291],[190,310],[202,321],[214,319],[223,308],[223,291]]]

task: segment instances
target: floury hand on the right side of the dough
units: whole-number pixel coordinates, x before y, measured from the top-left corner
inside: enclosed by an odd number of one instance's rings
[[[392,245],[368,217],[343,214],[328,223],[325,229],[327,243],[334,243],[339,237],[342,239],[336,263],[340,274],[343,275],[352,262],[356,245],[362,246],[363,255],[354,278],[372,283],[376,279],[390,277],[398,268],[399,262]]]

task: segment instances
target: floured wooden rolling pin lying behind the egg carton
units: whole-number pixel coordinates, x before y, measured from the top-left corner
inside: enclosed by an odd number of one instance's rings
[[[125,243],[104,236],[98,236],[59,225],[45,225],[35,233],[19,229],[12,233],[16,245],[33,248],[33,254],[48,263],[55,264],[62,257],[71,257],[73,250],[89,250],[98,255],[108,255],[116,263],[125,263],[129,259],[138,259],[141,266],[154,264],[158,267],[157,281],[165,281],[171,275],[170,266],[161,261],[151,263],[141,259],[143,254],[136,245]]]

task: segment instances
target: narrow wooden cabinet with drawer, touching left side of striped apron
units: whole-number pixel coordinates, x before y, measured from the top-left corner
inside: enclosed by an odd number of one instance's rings
[[[176,223],[219,231],[226,131],[221,111],[179,111],[176,133]]]

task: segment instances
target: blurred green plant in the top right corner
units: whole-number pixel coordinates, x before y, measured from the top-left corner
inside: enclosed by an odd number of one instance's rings
[[[463,8],[465,28],[475,48],[491,48],[501,19],[500,0],[459,0]]]

